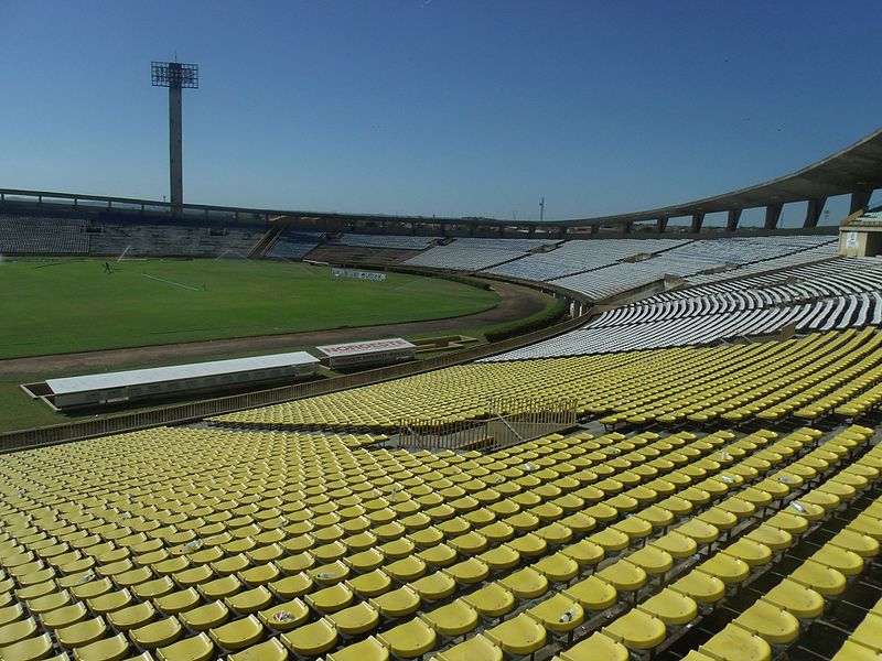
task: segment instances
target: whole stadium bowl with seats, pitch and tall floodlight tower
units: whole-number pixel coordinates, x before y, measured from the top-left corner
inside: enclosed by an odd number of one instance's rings
[[[882,659],[882,129],[615,215],[238,207],[152,76],[168,201],[0,188],[0,661]]]

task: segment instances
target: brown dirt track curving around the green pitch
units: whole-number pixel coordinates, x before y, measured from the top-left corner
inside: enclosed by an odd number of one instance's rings
[[[186,362],[217,357],[225,354],[279,353],[294,347],[334,344],[356,339],[378,339],[407,335],[456,334],[461,329],[504,324],[536,314],[545,308],[548,297],[525,286],[506,282],[494,282],[493,289],[499,295],[499,304],[484,312],[448,319],[428,322],[407,322],[364,326],[361,328],[335,328],[330,330],[308,330],[284,335],[260,335],[212,342],[107,349],[104,351],[83,351],[78,354],[56,354],[30,358],[0,360],[0,377],[13,375],[61,375],[86,371],[104,371],[126,366]]]

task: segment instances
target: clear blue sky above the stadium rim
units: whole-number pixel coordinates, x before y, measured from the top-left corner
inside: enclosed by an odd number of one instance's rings
[[[166,195],[150,62],[176,53],[201,67],[184,93],[187,202],[653,208],[879,128],[880,24],[882,3],[848,0],[0,0],[0,187]]]

